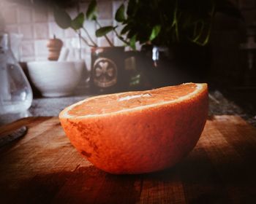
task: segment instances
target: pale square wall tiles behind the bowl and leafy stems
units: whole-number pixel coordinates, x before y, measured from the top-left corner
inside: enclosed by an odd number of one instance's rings
[[[98,17],[102,26],[115,23],[113,17],[121,2],[98,2]],[[86,12],[88,4],[88,2],[81,3],[80,11]],[[75,31],[70,28],[63,30],[56,25],[50,8],[32,9],[7,0],[0,0],[0,7],[4,8],[1,9],[1,15],[4,16],[6,30],[10,33],[23,34],[20,44],[20,61],[46,60],[48,58],[46,44],[48,39],[53,38],[53,34],[64,42],[65,47],[75,47],[78,44],[78,35]],[[76,9],[69,9],[68,12],[72,17],[78,14]],[[93,21],[86,21],[84,26],[99,46],[108,46],[104,38],[96,38],[94,33],[97,26]],[[122,45],[113,34],[109,34],[109,38],[115,45]],[[86,48],[86,44],[82,46]]]

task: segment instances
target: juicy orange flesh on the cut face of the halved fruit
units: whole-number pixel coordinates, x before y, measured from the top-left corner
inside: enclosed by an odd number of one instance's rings
[[[138,106],[146,106],[154,103],[173,101],[195,91],[196,85],[179,85],[162,87],[156,90],[143,92],[128,92],[119,95],[109,95],[108,98],[92,98],[86,103],[75,106],[68,111],[69,115],[86,116],[88,114],[108,114],[122,109],[132,109]],[[173,93],[173,94],[172,94]]]

